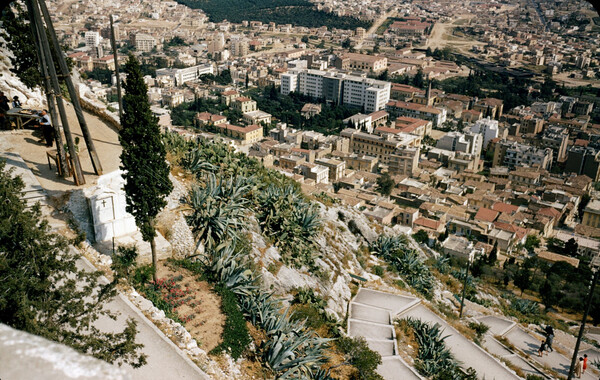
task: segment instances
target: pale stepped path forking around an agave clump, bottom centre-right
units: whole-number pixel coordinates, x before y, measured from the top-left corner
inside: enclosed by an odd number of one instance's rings
[[[519,377],[489,353],[469,339],[462,336],[446,321],[425,307],[419,298],[399,296],[361,288],[350,304],[348,333],[351,336],[363,336],[369,346],[379,352],[384,360],[378,372],[386,379],[419,379],[419,376],[404,361],[391,364],[391,358],[397,356],[398,348],[392,325],[396,317],[413,317],[431,323],[439,323],[444,329],[448,348],[463,367],[472,367],[479,378],[496,380],[514,380]],[[398,356],[399,358],[399,356]],[[397,374],[404,371],[402,377]],[[409,372],[410,371],[410,372]]]

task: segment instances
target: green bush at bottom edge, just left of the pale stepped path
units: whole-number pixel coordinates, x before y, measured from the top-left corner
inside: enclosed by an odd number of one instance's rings
[[[344,361],[356,368],[353,379],[382,380],[376,371],[381,364],[381,355],[371,350],[363,337],[340,337],[336,341],[338,350],[344,355]]]

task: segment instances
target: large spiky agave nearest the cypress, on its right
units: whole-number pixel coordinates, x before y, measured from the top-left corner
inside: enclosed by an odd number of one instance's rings
[[[204,243],[210,248],[227,238],[238,238],[238,231],[245,225],[248,200],[244,196],[250,186],[241,177],[218,180],[214,173],[208,173],[205,178],[205,186],[192,186],[185,200],[191,211],[186,221],[197,246]]]

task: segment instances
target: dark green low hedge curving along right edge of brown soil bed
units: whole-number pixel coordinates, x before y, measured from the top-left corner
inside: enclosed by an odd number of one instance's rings
[[[221,310],[226,319],[223,327],[223,342],[215,347],[211,353],[228,351],[232,358],[237,359],[252,341],[244,320],[244,314],[238,306],[237,297],[231,290],[219,285],[215,287],[215,291],[221,296]]]

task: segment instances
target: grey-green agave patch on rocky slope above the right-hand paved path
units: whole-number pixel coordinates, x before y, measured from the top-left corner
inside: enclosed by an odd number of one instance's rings
[[[419,254],[410,248],[406,236],[380,235],[369,249],[390,263],[416,291],[426,297],[431,296],[435,278]]]

